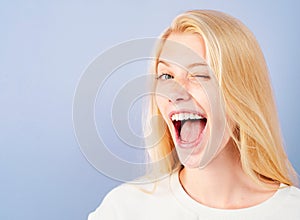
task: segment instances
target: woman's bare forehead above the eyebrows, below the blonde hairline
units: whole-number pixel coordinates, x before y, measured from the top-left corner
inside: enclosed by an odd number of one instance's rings
[[[198,34],[173,33],[163,45],[159,60],[184,67],[206,63],[204,41]]]

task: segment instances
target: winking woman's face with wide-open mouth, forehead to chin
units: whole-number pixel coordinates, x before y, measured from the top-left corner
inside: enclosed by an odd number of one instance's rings
[[[157,66],[156,101],[185,166],[203,168],[226,146],[223,99],[200,35],[168,37]]]

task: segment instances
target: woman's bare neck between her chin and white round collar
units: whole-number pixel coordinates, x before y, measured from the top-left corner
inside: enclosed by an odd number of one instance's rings
[[[194,200],[210,207],[242,208],[253,205],[251,202],[259,202],[249,200],[245,203],[245,195],[248,199],[248,194],[258,188],[243,172],[238,150],[233,145],[226,146],[203,169],[184,167],[179,177],[183,188]]]

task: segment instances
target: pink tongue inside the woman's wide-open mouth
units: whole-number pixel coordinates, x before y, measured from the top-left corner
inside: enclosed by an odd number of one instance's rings
[[[184,142],[193,142],[199,137],[204,127],[203,120],[187,120],[181,127],[180,139]]]

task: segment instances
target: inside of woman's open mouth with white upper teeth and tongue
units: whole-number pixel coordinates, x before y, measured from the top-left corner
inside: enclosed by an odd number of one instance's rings
[[[194,143],[201,138],[207,119],[196,113],[175,113],[171,115],[176,139],[182,144]]]

